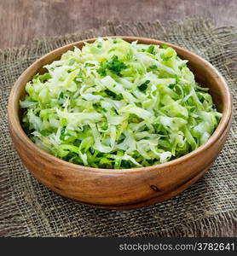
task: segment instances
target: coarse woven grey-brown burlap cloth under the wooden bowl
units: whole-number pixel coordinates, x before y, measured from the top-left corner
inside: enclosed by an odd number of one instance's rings
[[[217,67],[233,94],[232,129],[211,170],[181,195],[152,207],[107,211],[63,198],[32,177],[9,137],[7,102],[20,73],[55,48],[106,35],[157,38],[190,49]],[[86,33],[40,39],[20,49],[0,51],[0,236],[236,236],[235,42],[233,27],[215,28],[203,19],[172,21],[165,26],[158,21],[136,25],[108,22]]]

